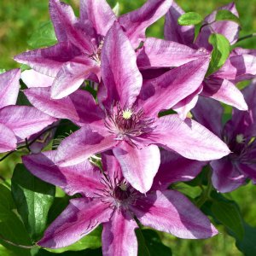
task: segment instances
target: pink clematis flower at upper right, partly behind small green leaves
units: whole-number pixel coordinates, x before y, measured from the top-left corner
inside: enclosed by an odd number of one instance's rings
[[[225,5],[220,9],[230,10],[238,16],[235,3]],[[216,13],[217,11],[214,11],[206,17],[201,32],[194,43],[195,26],[179,26],[177,24],[178,17],[183,15],[184,11],[177,3],[173,2],[171,9],[166,14],[165,38],[168,41],[148,38],[143,48],[138,52],[139,63],[143,62],[145,68],[150,68],[150,66],[151,68],[173,67],[172,56],[176,57],[177,55],[175,47],[177,51],[185,53],[190,51],[191,57],[204,53],[210,54],[212,45],[208,43],[208,38],[212,32],[223,34],[228,38],[230,44],[235,44],[238,39],[239,25],[230,20],[214,21]],[[174,45],[176,46],[174,47]],[[185,45],[194,48],[194,52],[193,49],[185,48]],[[178,102],[173,109],[184,119],[190,109],[195,107],[198,96],[202,95],[240,110],[247,110],[247,103],[244,101],[241,91],[236,88],[236,83],[241,80],[252,79],[256,75],[255,56],[254,50],[233,49],[224,66],[204,79],[198,90],[192,92],[183,101]],[[183,61],[182,58],[181,61]]]

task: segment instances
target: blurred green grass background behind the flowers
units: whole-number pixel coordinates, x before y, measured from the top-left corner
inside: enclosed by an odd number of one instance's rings
[[[79,15],[79,0],[66,1],[73,6]],[[126,13],[132,9],[137,9],[145,0],[119,0],[120,13]],[[113,7],[114,0],[108,0]],[[195,11],[203,16],[208,15],[213,9],[224,4],[230,3],[229,0],[177,0],[177,3],[185,11]],[[236,8],[241,18],[241,34],[245,36],[256,32],[256,0],[237,0]],[[31,38],[40,26],[41,22],[49,20],[48,1],[47,0],[9,0],[0,1],[0,69],[10,69],[20,67],[13,61],[13,57],[26,49],[29,49],[27,41]],[[154,26],[148,29],[148,36],[163,38],[164,19],[159,20]],[[256,38],[250,38],[237,44],[244,48],[256,49]],[[19,155],[16,154],[0,163],[0,183],[3,179],[11,177],[15,163],[19,161]],[[180,185],[179,189],[184,194],[196,193],[190,191],[191,187]],[[256,227],[256,187],[252,184],[241,187],[236,191],[226,194],[226,197],[237,201],[241,207],[243,218],[248,224]],[[177,239],[173,236],[160,233],[162,241],[168,247],[172,247],[173,255],[177,256],[195,256],[195,255],[219,255],[236,256],[242,255],[236,249],[236,241],[228,236],[221,226],[218,227],[220,235],[208,240],[189,241]],[[256,242],[256,241],[255,241]]]

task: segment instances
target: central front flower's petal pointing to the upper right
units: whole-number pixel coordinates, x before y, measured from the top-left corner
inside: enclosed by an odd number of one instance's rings
[[[139,95],[144,113],[157,115],[160,110],[172,108],[197,90],[207,73],[209,57],[201,57],[176,67],[156,79],[146,80]]]

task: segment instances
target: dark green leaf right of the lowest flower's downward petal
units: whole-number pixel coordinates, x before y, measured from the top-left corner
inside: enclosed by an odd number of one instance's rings
[[[136,230],[138,256],[172,256],[170,247],[166,247],[154,230]]]

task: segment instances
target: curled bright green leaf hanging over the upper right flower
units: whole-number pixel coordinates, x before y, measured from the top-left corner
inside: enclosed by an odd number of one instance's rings
[[[223,35],[211,34],[209,43],[212,44],[213,50],[207,76],[222,67],[230,55],[230,42]]]

